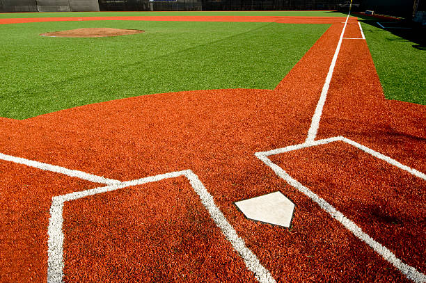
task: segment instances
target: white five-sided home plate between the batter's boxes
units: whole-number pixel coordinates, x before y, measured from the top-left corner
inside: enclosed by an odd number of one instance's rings
[[[269,224],[290,227],[294,203],[281,192],[235,202],[246,218]]]

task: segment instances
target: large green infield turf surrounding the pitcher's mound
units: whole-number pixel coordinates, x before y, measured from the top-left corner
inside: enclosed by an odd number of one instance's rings
[[[0,25],[0,116],[161,92],[273,89],[329,24],[41,22]],[[141,29],[113,38],[47,38],[88,27]]]

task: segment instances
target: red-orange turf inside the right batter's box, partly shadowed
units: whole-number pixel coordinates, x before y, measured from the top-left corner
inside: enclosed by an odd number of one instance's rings
[[[309,160],[300,166],[297,160]],[[336,142],[272,156],[295,179],[329,200],[364,232],[411,266],[426,271],[426,181],[368,153]],[[310,172],[310,174],[306,174]],[[410,243],[407,245],[407,243]]]

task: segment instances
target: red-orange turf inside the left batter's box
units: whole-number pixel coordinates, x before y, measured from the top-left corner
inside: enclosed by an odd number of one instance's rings
[[[256,282],[184,177],[85,197],[63,215],[66,282]]]

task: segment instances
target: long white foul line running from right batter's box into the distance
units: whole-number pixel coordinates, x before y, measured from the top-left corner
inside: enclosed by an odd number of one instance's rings
[[[350,13],[349,13],[350,14]],[[319,120],[321,120],[322,108],[324,108],[324,104],[327,97],[327,92],[329,92],[331,78],[333,77],[334,67],[336,66],[336,61],[339,55],[340,46],[342,45],[343,35],[345,34],[345,29],[347,26],[347,20],[349,19],[349,14],[346,17],[345,25],[343,26],[342,33],[340,33],[340,38],[338,45],[336,47],[336,51],[334,52],[333,60],[331,60],[331,64],[329,67],[329,72],[327,73],[326,80],[324,82],[324,86],[322,86],[321,95],[319,96],[319,101],[317,103],[317,107],[315,108],[315,113],[310,122],[310,128],[308,130],[308,137],[306,138],[306,143],[311,143],[317,137],[317,131],[319,127]]]

